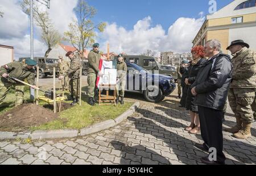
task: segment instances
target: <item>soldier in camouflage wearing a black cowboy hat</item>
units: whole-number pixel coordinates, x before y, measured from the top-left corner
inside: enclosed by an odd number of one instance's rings
[[[238,139],[251,136],[251,124],[255,114],[256,51],[242,40],[233,41],[227,48],[231,51],[233,81],[230,84],[229,104],[236,115],[237,125],[225,129]]]

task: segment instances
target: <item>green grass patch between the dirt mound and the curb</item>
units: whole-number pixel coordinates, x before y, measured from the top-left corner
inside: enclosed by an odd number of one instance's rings
[[[39,127],[32,127],[31,130],[57,130],[57,129],[78,129],[88,127],[98,122],[115,119],[121,115],[133,103],[126,102],[125,105],[101,105],[89,106],[82,102],[82,106],[76,105],[60,113],[60,119],[46,123]]]

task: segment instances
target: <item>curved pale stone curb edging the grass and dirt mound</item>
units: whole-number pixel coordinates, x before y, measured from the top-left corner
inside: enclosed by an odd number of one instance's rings
[[[81,130],[38,130],[33,132],[4,132],[0,131],[0,139],[28,139],[38,140],[38,139],[61,139],[61,138],[75,138],[78,136],[85,136],[94,134],[96,132],[100,132],[102,130],[106,130],[108,128],[112,128],[130,115],[133,115],[140,103],[135,102],[128,110],[126,110],[123,114],[119,115],[117,118],[110,119],[105,122],[96,123],[93,126],[83,128]]]

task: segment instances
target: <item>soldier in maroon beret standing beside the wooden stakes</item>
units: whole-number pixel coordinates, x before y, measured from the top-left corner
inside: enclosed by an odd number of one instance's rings
[[[68,51],[66,57],[71,59],[70,66],[67,71],[64,72],[63,76],[60,76],[59,79],[63,79],[68,76],[69,80],[69,92],[73,102],[71,105],[75,105],[79,101],[79,91],[80,91],[80,68],[81,61],[79,58],[75,57],[72,51]]]

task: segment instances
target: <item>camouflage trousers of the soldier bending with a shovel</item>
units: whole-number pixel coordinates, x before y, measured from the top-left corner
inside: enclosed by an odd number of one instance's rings
[[[10,91],[13,85],[15,88],[15,96],[16,96],[15,106],[19,106],[23,104],[25,86],[20,84],[5,83],[2,80],[0,80],[0,105],[3,103],[3,100],[5,100],[7,93]]]

